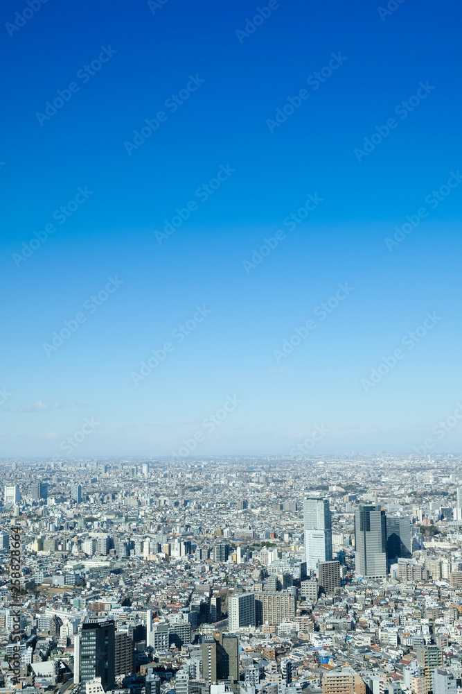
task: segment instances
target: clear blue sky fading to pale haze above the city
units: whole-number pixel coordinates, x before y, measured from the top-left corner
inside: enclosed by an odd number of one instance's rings
[[[30,2],[0,10],[0,456],[459,452],[461,8]]]

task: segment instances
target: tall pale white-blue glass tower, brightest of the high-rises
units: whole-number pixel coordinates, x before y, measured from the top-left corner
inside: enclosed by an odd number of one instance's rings
[[[332,518],[327,499],[308,498],[303,502],[306,567],[317,571],[319,561],[332,559]]]

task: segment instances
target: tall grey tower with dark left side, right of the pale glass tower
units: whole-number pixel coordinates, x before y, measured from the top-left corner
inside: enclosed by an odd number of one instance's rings
[[[387,516],[376,506],[355,511],[356,575],[387,578]]]

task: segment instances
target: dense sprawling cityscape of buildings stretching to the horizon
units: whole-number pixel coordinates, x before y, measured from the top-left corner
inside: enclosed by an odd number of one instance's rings
[[[460,466],[3,461],[0,691],[456,693]]]

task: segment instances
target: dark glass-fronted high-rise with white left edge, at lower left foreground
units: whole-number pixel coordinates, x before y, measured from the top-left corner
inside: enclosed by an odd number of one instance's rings
[[[80,682],[82,689],[94,677],[101,677],[105,691],[114,689],[115,670],[114,620],[87,617],[80,637]]]

